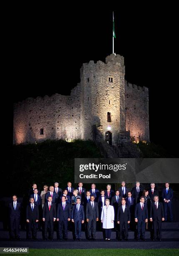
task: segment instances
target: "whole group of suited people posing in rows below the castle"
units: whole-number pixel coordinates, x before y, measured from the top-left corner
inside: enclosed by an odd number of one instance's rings
[[[37,240],[38,223],[42,221],[43,238],[53,241],[54,224],[57,225],[57,239],[68,240],[68,225],[74,223],[74,240],[81,241],[82,224],[87,228],[87,239],[96,240],[97,223],[101,222],[104,229],[104,240],[110,241],[112,228],[116,228],[116,238],[128,241],[128,228],[134,230],[137,224],[137,241],[145,241],[145,229],[148,223],[153,224],[152,240],[162,240],[162,221],[167,221],[169,212],[170,221],[173,221],[172,198],[173,190],[169,183],[165,183],[162,191],[162,201],[159,202],[159,192],[155,184],[150,184],[149,190],[144,190],[139,182],[132,190],[122,181],[121,187],[114,193],[111,185],[107,189],[99,190],[91,184],[91,189],[86,191],[82,182],[77,189],[68,182],[62,190],[58,187],[45,185],[40,193],[37,184],[33,184],[29,191],[30,202],[26,208],[27,239]],[[10,239],[20,240],[20,212],[21,203],[13,195],[9,204],[10,210]],[[124,237],[122,231],[124,229]],[[47,236],[49,230],[50,235]]]

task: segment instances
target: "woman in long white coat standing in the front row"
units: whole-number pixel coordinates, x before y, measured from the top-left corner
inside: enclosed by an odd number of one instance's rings
[[[102,228],[105,229],[105,240],[110,240],[111,229],[114,228],[114,207],[109,205],[109,199],[105,200],[106,205],[102,207],[101,222]]]

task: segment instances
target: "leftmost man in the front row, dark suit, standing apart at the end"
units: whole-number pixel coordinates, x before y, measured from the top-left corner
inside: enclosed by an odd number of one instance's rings
[[[12,202],[9,204],[9,214],[10,214],[10,239],[20,240],[20,212],[21,203],[17,202],[17,196],[13,195]]]

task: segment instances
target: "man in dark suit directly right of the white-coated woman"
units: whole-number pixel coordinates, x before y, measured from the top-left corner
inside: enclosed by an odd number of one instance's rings
[[[118,207],[117,210],[117,223],[120,227],[120,238],[119,241],[122,240],[122,228],[125,228],[125,240],[128,241],[128,224],[130,223],[131,216],[129,206],[126,205],[125,199],[121,201],[122,205]]]

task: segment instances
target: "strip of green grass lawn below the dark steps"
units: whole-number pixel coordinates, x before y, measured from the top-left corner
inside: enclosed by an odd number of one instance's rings
[[[13,254],[19,255],[19,254]],[[61,256],[164,256],[179,255],[179,249],[30,249],[29,255],[61,255]]]

